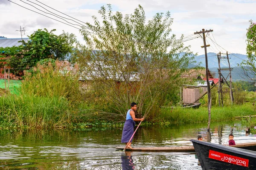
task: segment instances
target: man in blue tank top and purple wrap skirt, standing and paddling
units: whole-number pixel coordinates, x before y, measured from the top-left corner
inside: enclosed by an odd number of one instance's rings
[[[128,110],[127,114],[126,114],[126,121],[125,121],[125,125],[122,131],[122,139],[121,142],[125,143],[127,145],[127,147],[129,149],[132,149],[131,147],[131,142],[133,139],[131,139],[131,136],[134,133],[134,127],[135,127],[135,122],[134,121],[143,121],[144,118],[141,119],[137,119],[135,117],[135,111],[137,110],[137,104],[132,102],[131,103],[131,109]],[[131,141],[129,142],[129,140],[131,139]],[[128,143],[129,142],[129,143]]]

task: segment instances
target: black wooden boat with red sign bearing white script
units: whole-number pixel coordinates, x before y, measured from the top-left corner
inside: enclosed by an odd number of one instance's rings
[[[256,151],[190,140],[203,170],[256,170]]]

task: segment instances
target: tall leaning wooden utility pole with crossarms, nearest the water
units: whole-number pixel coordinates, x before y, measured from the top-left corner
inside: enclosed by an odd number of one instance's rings
[[[203,34],[203,40],[204,40],[204,46],[201,46],[201,48],[204,48],[204,54],[205,54],[205,66],[206,66],[206,82],[207,82],[207,94],[208,94],[208,127],[207,131],[210,132],[210,122],[211,122],[211,105],[212,105],[212,99],[211,99],[211,90],[210,90],[210,83],[209,83],[209,70],[208,70],[208,59],[207,59],[207,47],[210,45],[206,45],[205,40],[205,33],[212,32],[213,30],[206,30],[204,31],[204,28],[200,32],[195,32],[194,34]]]

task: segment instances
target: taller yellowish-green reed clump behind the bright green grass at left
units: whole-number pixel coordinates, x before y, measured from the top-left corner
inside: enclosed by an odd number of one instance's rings
[[[31,72],[26,72],[21,86],[21,93],[34,96],[60,96],[76,104],[81,99],[79,80],[76,72],[68,71],[61,62],[47,66],[38,65]],[[66,66],[68,67],[68,66]]]

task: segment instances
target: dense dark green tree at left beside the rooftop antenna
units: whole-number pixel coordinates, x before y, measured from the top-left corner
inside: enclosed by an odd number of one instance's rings
[[[48,31],[38,29],[29,36],[27,42],[23,41],[20,50],[9,59],[9,65],[13,68],[32,67],[41,59],[64,60],[70,57],[76,44],[74,34],[65,33],[55,35],[55,29]]]

